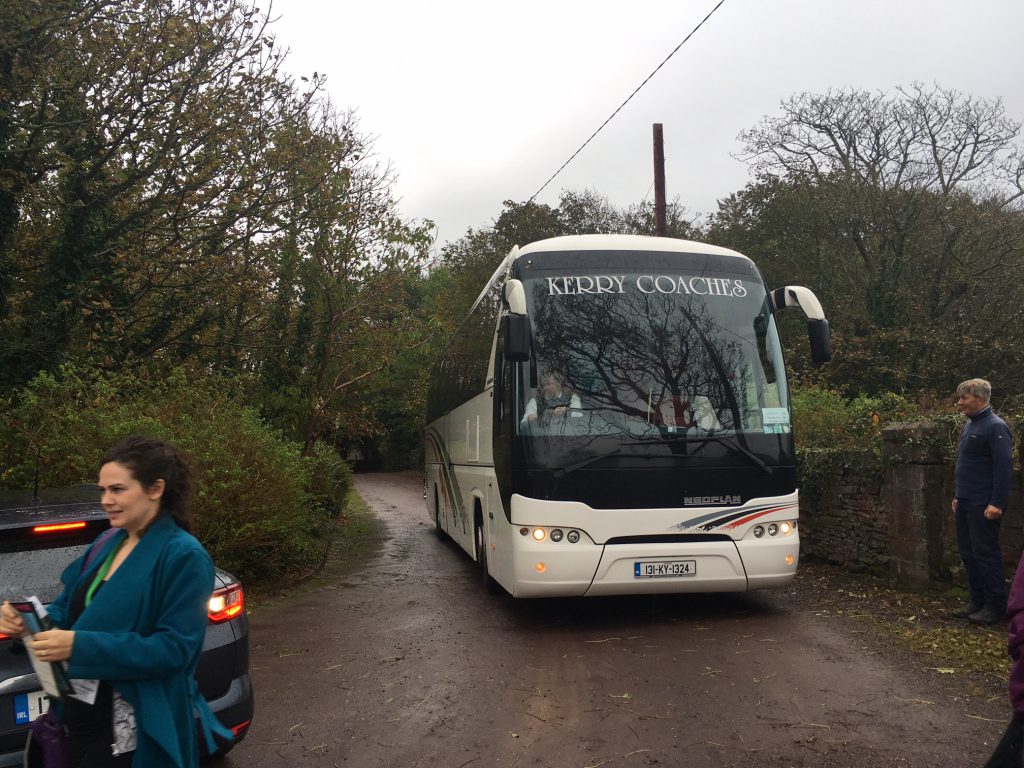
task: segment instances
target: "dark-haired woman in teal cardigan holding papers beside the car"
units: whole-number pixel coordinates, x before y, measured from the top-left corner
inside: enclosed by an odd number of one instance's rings
[[[150,437],[127,437],[99,466],[101,534],[60,577],[48,606],[58,629],[28,641],[73,679],[96,680],[92,703],[68,698],[68,768],[194,768],[195,714],[207,745],[230,732],[215,721],[194,673],[206,634],[213,561],[188,532],[193,474],[185,457]],[[0,632],[25,627],[4,603]]]

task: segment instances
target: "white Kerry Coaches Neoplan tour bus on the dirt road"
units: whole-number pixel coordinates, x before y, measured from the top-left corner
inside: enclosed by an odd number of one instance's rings
[[[788,387],[767,291],[716,246],[634,236],[513,248],[435,369],[427,511],[515,597],[742,591],[800,556]]]

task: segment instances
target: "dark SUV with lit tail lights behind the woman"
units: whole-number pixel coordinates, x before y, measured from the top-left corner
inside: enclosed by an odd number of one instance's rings
[[[104,528],[95,486],[34,494],[0,492],[0,599],[57,596],[59,577]],[[196,680],[217,719],[242,740],[253,718],[249,620],[242,585],[217,568],[210,585],[209,623]],[[20,766],[29,723],[48,702],[25,647],[0,634],[0,768]],[[201,749],[204,748],[200,737]]]

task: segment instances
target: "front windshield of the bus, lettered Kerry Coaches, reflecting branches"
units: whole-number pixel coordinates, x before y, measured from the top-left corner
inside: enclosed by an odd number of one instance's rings
[[[535,272],[532,356],[517,372],[523,438],[577,447],[790,432],[784,368],[752,274]],[[595,447],[596,450],[596,447]]]

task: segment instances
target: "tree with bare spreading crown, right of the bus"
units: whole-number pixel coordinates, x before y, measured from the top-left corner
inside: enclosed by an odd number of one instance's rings
[[[853,360],[833,372],[944,386],[968,358],[1016,380],[995,350],[1024,343],[1020,134],[1001,100],[939,86],[801,93],[740,134],[758,180],[714,228],[760,232],[738,237],[785,280],[813,274]]]

